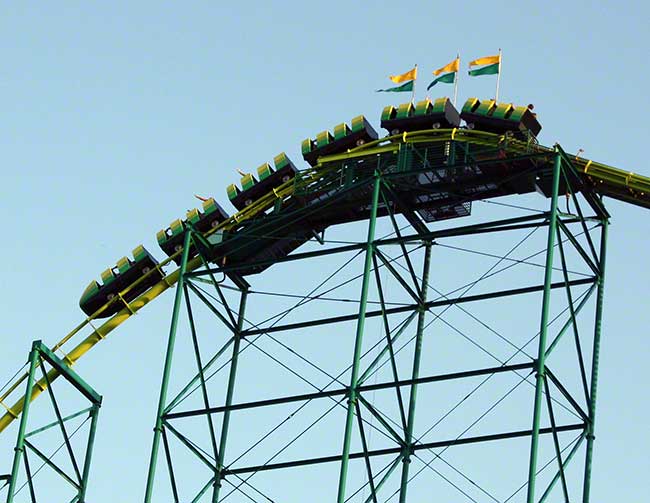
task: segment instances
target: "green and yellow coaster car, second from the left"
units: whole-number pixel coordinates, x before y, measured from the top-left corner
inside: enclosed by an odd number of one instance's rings
[[[214,229],[221,222],[228,219],[228,213],[217,203],[213,198],[204,201],[203,212],[199,209],[193,209],[187,212],[187,219],[174,220],[167,229],[158,231],[156,238],[161,250],[165,255],[171,257],[174,253],[183,249],[183,233],[185,231],[185,224],[189,222],[198,232],[207,232]],[[196,255],[194,249],[190,250],[190,257]],[[181,256],[178,255],[174,258],[177,265],[181,263]]]

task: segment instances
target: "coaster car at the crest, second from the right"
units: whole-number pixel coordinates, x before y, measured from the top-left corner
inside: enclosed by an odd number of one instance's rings
[[[381,127],[391,135],[422,129],[456,128],[459,125],[460,115],[449,98],[438,98],[435,102],[427,99],[416,105],[412,102],[398,107],[389,105],[381,113]]]

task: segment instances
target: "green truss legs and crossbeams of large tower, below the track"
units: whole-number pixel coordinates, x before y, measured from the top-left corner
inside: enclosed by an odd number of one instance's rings
[[[511,162],[514,163],[517,160],[513,158]],[[396,500],[403,503],[407,501],[409,483],[420,473],[414,474],[411,469],[412,461],[418,457],[419,453],[426,451],[433,453],[434,457],[431,461],[433,462],[441,459],[442,453],[454,446],[484,444],[516,438],[530,439],[526,481],[519,488],[525,489],[527,503],[547,501],[551,494],[561,494],[562,499],[568,502],[570,491],[575,490],[575,483],[572,484],[568,481],[568,468],[581,449],[584,450],[585,461],[579,475],[582,479],[580,492],[582,501],[588,502],[594,447],[608,215],[600,200],[593,198],[588,199],[587,203],[595,214],[586,216],[583,213],[581,203],[584,204],[584,199],[577,193],[578,178],[575,169],[559,147],[556,148],[551,165],[552,169],[542,167],[536,173],[538,178],[545,177],[550,182],[550,208],[548,210],[525,217],[438,231],[430,231],[415,211],[409,211],[408,208],[401,206],[401,201],[393,189],[394,176],[392,174],[384,173],[380,169],[375,170],[373,176],[368,177],[365,182],[368,188],[368,227],[365,241],[323,250],[295,253],[282,259],[283,262],[297,262],[350,252],[363,254],[363,267],[359,274],[358,311],[355,313],[342,313],[337,316],[314,318],[296,323],[280,324],[279,321],[276,321],[270,324],[253,324],[248,322],[246,307],[251,295],[251,287],[238,274],[238,269],[241,269],[242,266],[221,264],[220,267],[215,268],[210,265],[211,261],[214,262],[214,257],[206,256],[203,268],[187,272],[185,266],[188,262],[187,250],[190,243],[193,241],[197,249],[202,249],[200,234],[188,230],[185,235],[185,253],[181,260],[181,272],[172,311],[145,502],[153,501],[154,480],[159,464],[161,444],[164,462],[167,466],[169,491],[173,501],[176,502],[223,501],[233,491],[240,491],[241,494],[247,496],[248,500],[256,501],[255,497],[251,497],[241,488],[247,488],[253,494],[257,493],[263,498],[268,498],[249,482],[250,477],[257,473],[337,463],[339,465],[337,489],[335,494],[327,496],[328,501],[336,498],[337,503],[344,503],[358,495],[363,489],[369,492],[365,499],[367,502],[388,501],[397,498]],[[559,209],[561,189],[566,193],[567,205],[570,201],[574,207],[571,212],[568,210],[562,212]],[[380,208],[383,208],[383,214],[391,219],[394,226],[394,236],[392,237],[380,238],[376,235],[376,222]],[[403,229],[399,228],[396,220],[397,210],[406,217],[413,233],[404,234]],[[524,229],[545,229],[547,232],[546,247],[543,250],[544,274],[541,283],[511,288],[504,285],[481,294],[469,295],[467,290],[444,298],[433,300],[429,298],[431,253],[437,240],[450,236],[491,236]],[[400,250],[399,259],[404,264],[401,266],[402,270],[396,265],[395,258],[385,252],[389,246],[392,249]],[[421,257],[417,264],[413,260],[413,247],[420,250]],[[590,273],[582,277],[575,277],[569,263],[571,260],[579,261]],[[247,267],[250,267],[250,264],[247,264]],[[383,280],[379,273],[380,270],[388,274],[391,280],[401,287],[402,293],[410,297],[410,303],[396,307],[388,302],[388,292],[382,287]],[[223,279],[217,280],[217,275],[222,273],[227,276],[232,285],[226,287]],[[371,283],[374,283],[376,287],[379,308],[373,308],[369,304]],[[581,294],[576,293],[579,287],[584,288]],[[205,288],[210,289],[211,295],[206,294]],[[239,300],[236,308],[232,302],[227,300],[226,288],[229,288],[230,292],[237,292]],[[517,363],[506,361],[498,366],[462,369],[452,373],[423,374],[421,372],[425,329],[434,309],[471,305],[492,299],[510,302],[520,296],[533,293],[541,294],[541,308],[539,318],[531,320],[531,325],[536,325],[539,330],[535,336],[537,351],[530,358],[525,358]],[[566,301],[566,308],[560,313],[562,316],[553,317],[551,299],[560,295]],[[207,360],[199,349],[203,336],[199,334],[193,319],[195,303],[207,307],[214,316],[215,326],[221,327],[222,332],[225,329],[228,334],[218,350],[211,354]],[[581,328],[578,323],[578,316],[590,303],[593,303],[594,319],[591,337],[588,337],[585,335],[584,327]],[[170,399],[168,396],[169,382],[173,374],[173,355],[183,306],[187,314],[188,331],[197,372],[186,382],[180,393]],[[405,315],[406,318],[402,323],[395,324],[392,321],[394,315]],[[364,329],[366,322],[373,318],[381,320],[385,329],[385,340],[381,346],[377,347],[376,356],[368,362],[368,353],[364,353]],[[277,320],[281,319],[282,316],[277,317]],[[347,384],[340,385],[340,380],[337,379],[333,383],[337,387],[327,386],[311,393],[274,396],[249,402],[235,401],[237,382],[245,378],[239,375],[238,365],[241,353],[247,347],[247,341],[257,337],[267,337],[274,333],[286,334],[313,327],[331,326],[335,329],[337,324],[345,322],[355,325],[354,333],[351,334],[354,344],[349,358],[350,365],[341,374],[349,379]],[[558,325],[559,328],[557,328]],[[408,373],[405,377],[403,360],[398,361],[396,356],[397,343],[398,340],[400,342],[403,340],[407,331],[413,329],[414,334],[408,341],[411,356]],[[570,391],[553,370],[553,356],[558,353],[560,342],[571,336],[576,351],[575,365],[579,370],[581,381],[582,393],[580,396],[575,396],[575,392]],[[590,344],[589,350],[585,350],[586,343]],[[589,352],[591,353],[590,362],[585,356]],[[521,356],[521,348],[515,354]],[[213,370],[224,355],[230,355],[227,358],[226,367],[228,371],[227,385],[222,404],[216,406],[210,399],[209,387],[214,375]],[[390,366],[392,379],[370,383],[369,377],[382,365]],[[401,375],[400,369],[402,369]],[[424,434],[416,429],[416,417],[422,417],[422,414],[425,413],[422,411],[422,407],[418,407],[418,391],[422,387],[434,383],[500,374],[522,375],[525,379],[527,373],[534,377],[530,382],[533,390],[532,425],[530,428],[493,431],[489,434],[473,436],[463,433],[454,438],[422,440]],[[392,390],[394,393],[398,411],[397,420],[393,420],[389,415],[383,413],[368,399],[371,392],[378,390]],[[183,410],[181,404],[184,398],[194,391],[200,393],[202,406]],[[302,456],[281,462],[273,462],[273,458],[271,458],[271,460],[257,464],[233,463],[233,459],[229,457],[229,439],[232,436],[232,429],[237,427],[237,424],[231,421],[233,412],[255,410],[259,417],[263,417],[267,410],[277,405],[301,404],[302,407],[302,405],[319,400],[333,400],[335,407],[345,411],[342,421],[342,436],[339,439],[341,448],[338,453],[317,457]],[[570,408],[576,419],[573,421],[560,420],[557,413],[558,405],[562,405],[565,409]],[[189,418],[201,418],[204,421],[207,429],[205,437],[209,438],[210,448],[208,450],[198,447],[190,436],[182,433],[181,428],[177,427],[180,421]],[[381,449],[369,447],[370,418],[372,419],[372,428],[382,430],[383,435],[391,439],[393,446]],[[564,441],[562,433],[571,431],[576,432],[578,436],[571,442]],[[185,481],[175,475],[175,451],[170,442],[172,437],[211,474],[203,481],[199,490],[192,494],[183,492],[182,486]],[[551,461],[555,466],[555,474],[552,477],[546,477],[544,479],[545,486],[540,488],[538,487],[540,471],[547,468],[550,463],[546,462],[542,466],[540,445],[543,442],[549,442],[549,445],[552,445],[554,457]],[[360,448],[355,449],[355,445]],[[373,461],[379,458],[389,459],[389,462],[378,470]],[[352,492],[349,487],[349,470],[351,463],[355,460],[363,463],[366,480],[360,488]],[[424,463],[425,467],[430,463]],[[575,478],[576,472],[572,471],[571,475]],[[224,494],[226,484],[230,486],[228,494]],[[392,494],[390,491],[387,492],[387,488],[391,484],[392,487],[396,487]],[[516,491],[515,494],[518,492]],[[575,494],[571,494],[571,496],[574,497]],[[575,500],[572,499],[572,501]]]

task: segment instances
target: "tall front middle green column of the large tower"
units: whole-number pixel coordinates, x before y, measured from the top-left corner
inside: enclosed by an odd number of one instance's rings
[[[381,188],[381,175],[375,173],[375,181],[372,192],[372,205],[370,207],[370,220],[368,222],[368,238],[366,240],[366,259],[363,269],[363,280],[361,283],[361,298],[359,301],[359,318],[354,339],[354,356],[352,357],[352,376],[350,378],[350,396],[348,398],[348,412],[345,420],[345,434],[343,436],[343,451],[341,455],[341,472],[339,474],[338,496],[336,501],[344,503],[345,485],[348,476],[348,463],[350,460],[350,442],[352,439],[352,425],[354,419],[354,407],[357,402],[357,385],[359,377],[359,365],[361,360],[361,349],[363,343],[363,329],[366,321],[366,306],[368,303],[368,285],[372,270],[372,257],[374,254],[375,224],[377,221],[377,206],[379,204],[379,191]]]

